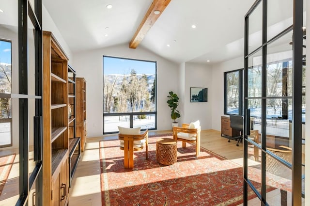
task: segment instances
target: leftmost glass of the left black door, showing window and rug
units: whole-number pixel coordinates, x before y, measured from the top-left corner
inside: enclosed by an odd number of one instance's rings
[[[0,13],[0,205],[19,198],[18,1],[2,0]]]

